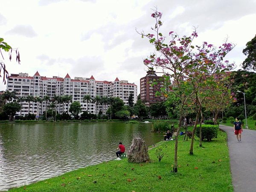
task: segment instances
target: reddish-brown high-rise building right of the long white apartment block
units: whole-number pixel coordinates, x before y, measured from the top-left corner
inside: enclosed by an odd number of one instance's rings
[[[156,96],[156,92],[160,91],[160,88],[163,87],[163,81],[160,81],[160,78],[162,77],[157,76],[155,71],[149,70],[147,75],[140,79],[140,99],[146,106],[166,100],[166,97],[163,95]],[[158,83],[152,87],[151,83],[154,81]]]

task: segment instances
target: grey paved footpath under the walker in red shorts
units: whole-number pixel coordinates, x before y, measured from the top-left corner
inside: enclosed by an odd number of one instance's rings
[[[219,125],[227,133],[232,183],[235,192],[256,192],[256,131],[244,129],[241,143],[233,127]]]

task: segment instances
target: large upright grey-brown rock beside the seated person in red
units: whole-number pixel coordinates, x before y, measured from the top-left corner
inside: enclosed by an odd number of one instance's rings
[[[141,138],[134,138],[127,155],[128,162],[142,163],[149,160],[148,146]]]

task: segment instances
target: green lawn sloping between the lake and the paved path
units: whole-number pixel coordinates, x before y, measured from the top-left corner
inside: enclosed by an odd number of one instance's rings
[[[227,135],[224,132],[219,131],[218,138],[211,142],[203,142],[202,148],[195,141],[194,155],[189,155],[191,140],[183,141],[182,136],[179,140],[178,173],[171,172],[175,141],[162,141],[157,144],[164,151],[160,162],[155,154],[156,148],[151,148],[148,163],[111,160],[10,191],[233,192]]]

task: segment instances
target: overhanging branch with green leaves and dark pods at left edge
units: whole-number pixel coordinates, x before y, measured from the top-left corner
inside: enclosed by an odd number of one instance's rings
[[[18,49],[13,49],[10,45],[8,45],[3,40],[4,40],[3,38],[0,38],[0,53],[2,55],[2,58],[3,58],[3,53],[2,53],[2,50],[3,50],[5,52],[9,52],[9,59],[10,59],[10,61],[12,61],[12,51],[15,51],[16,52],[16,61],[18,62],[18,64],[20,64],[20,53],[19,53]],[[0,61],[0,77],[1,77],[1,72],[3,74],[3,82],[4,82],[4,84],[6,84],[6,79],[9,78],[9,73],[6,70],[6,65],[4,64],[3,61]]]

